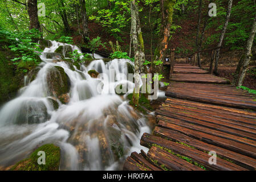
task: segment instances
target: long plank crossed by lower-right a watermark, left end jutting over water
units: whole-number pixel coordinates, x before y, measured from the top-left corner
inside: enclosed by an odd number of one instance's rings
[[[152,144],[157,144],[159,146],[168,148],[172,152],[176,154],[180,154],[183,156],[186,156],[190,159],[192,159],[194,162],[197,162],[199,164],[204,165],[208,169],[212,170],[224,170],[224,171],[245,171],[246,168],[240,167],[237,164],[233,164],[230,162],[227,162],[226,160],[217,158],[217,164],[211,165],[209,164],[209,158],[210,156],[206,154],[205,152],[196,150],[194,148],[190,148],[187,146],[184,146],[182,144],[178,144],[175,142],[171,142],[166,139],[162,139],[160,137],[155,137],[153,135],[149,135],[147,133],[143,134],[143,137],[141,137],[141,145],[145,147],[151,147]]]

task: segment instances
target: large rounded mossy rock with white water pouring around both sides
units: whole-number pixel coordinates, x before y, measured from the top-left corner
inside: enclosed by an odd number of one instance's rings
[[[70,78],[64,72],[62,67],[52,67],[47,73],[48,94],[52,97],[59,98],[62,104],[69,101],[68,92],[70,92]]]

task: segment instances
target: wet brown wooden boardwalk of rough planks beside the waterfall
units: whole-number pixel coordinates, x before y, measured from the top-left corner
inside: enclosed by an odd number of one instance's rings
[[[150,149],[133,152],[124,170],[256,169],[255,95],[198,69],[176,64],[168,98],[155,113],[157,125],[141,137]],[[210,151],[217,164],[209,163]]]

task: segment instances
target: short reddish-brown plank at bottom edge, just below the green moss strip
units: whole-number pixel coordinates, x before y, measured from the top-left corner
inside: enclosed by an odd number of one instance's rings
[[[148,157],[160,167],[162,166],[163,169],[172,171],[204,171],[204,169],[194,166],[186,162],[186,160],[180,159],[158,147],[151,147],[148,151]]]

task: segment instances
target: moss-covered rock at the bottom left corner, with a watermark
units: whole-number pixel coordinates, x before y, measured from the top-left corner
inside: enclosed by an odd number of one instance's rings
[[[39,151],[46,154],[46,164],[38,164]],[[60,163],[60,148],[54,144],[45,144],[37,148],[29,158],[21,160],[15,164],[11,171],[58,171]]]

